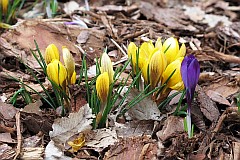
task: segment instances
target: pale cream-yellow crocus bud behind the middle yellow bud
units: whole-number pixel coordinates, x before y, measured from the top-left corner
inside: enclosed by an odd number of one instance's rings
[[[100,70],[101,70],[101,73],[104,73],[104,72],[108,73],[109,83],[111,84],[113,82],[114,71],[113,71],[112,61],[106,52],[102,54]]]

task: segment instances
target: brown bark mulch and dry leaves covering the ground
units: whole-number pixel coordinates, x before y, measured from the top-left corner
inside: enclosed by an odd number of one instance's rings
[[[81,67],[81,54],[86,53],[91,78],[96,74],[95,58],[106,46],[113,64],[119,65],[126,61],[124,52],[130,41],[140,44],[144,39],[165,39],[171,35],[185,41],[187,53],[194,54],[200,61],[201,76],[192,109],[195,124],[192,139],[184,132],[182,117],[167,114],[165,110],[160,112],[150,98],[129,110],[131,120],[124,115],[113,118],[117,122],[111,123],[109,117],[108,128],[92,130],[94,116],[81,96],[84,91],[77,88],[76,109],[63,118],[45,110],[46,104],[39,97],[29,105],[18,98],[17,102],[25,106],[20,111],[21,126],[18,126],[23,129],[20,157],[128,159],[131,155],[135,159],[239,159],[240,115],[236,102],[240,92],[239,2],[111,1],[103,4],[90,1],[89,11],[83,9],[85,4],[73,6],[71,3],[75,1],[61,3],[65,16],[26,18],[0,33],[0,94],[5,101],[0,101],[0,159],[13,159],[18,143],[15,115],[19,109],[7,103],[20,85],[11,81],[8,74],[23,77],[42,92],[21,65],[22,61],[26,62],[41,76],[39,65],[29,51],[29,48],[35,49],[34,39],[43,52],[49,43],[55,43],[59,49],[67,46],[77,68]],[[42,7],[36,5],[23,17],[43,17]],[[128,99],[138,94],[131,92]],[[177,102],[175,99],[169,108],[176,108]],[[73,148],[68,142],[79,147],[71,152]]]

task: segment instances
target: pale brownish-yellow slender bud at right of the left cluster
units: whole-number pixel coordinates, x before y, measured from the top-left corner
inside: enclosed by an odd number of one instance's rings
[[[65,46],[62,47],[62,54],[63,54],[64,65],[67,69],[67,75],[68,75],[67,80],[68,80],[68,83],[70,84],[73,73],[75,72],[75,61],[69,49]]]

